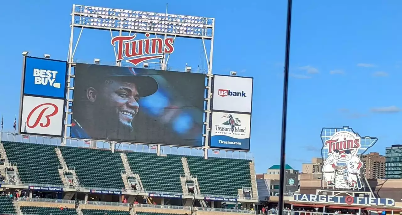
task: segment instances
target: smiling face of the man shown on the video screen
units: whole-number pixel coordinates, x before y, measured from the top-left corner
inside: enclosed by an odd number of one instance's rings
[[[139,94],[134,83],[122,80],[106,80],[98,96],[100,96],[100,101],[104,103],[100,106],[106,106],[108,110],[105,112],[109,115],[100,117],[108,117],[112,122],[117,119],[119,125],[130,130],[133,129],[131,122],[139,109]]]

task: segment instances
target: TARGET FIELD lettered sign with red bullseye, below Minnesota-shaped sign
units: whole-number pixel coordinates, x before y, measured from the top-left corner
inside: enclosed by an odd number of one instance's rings
[[[328,195],[310,195],[297,194],[293,195],[294,201],[305,203],[329,203],[342,205],[365,205],[365,206],[395,206],[394,199],[370,198],[370,197],[352,197],[352,196],[328,196]]]

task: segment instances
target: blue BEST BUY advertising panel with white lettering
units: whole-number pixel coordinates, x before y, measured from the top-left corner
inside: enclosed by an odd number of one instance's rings
[[[64,98],[67,62],[26,57],[23,78],[23,94]]]

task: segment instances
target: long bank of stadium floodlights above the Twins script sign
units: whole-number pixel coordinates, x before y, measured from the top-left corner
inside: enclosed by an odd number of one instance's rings
[[[106,30],[170,34],[182,37],[213,36],[213,18],[74,5],[74,26]]]

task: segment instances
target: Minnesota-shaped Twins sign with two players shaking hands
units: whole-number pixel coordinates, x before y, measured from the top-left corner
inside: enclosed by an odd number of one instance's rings
[[[363,189],[361,175],[364,164],[360,156],[374,145],[377,138],[360,137],[358,133],[354,133],[348,127],[332,128],[331,136],[323,136],[323,134],[327,134],[324,132],[325,129],[322,132],[323,187]]]

